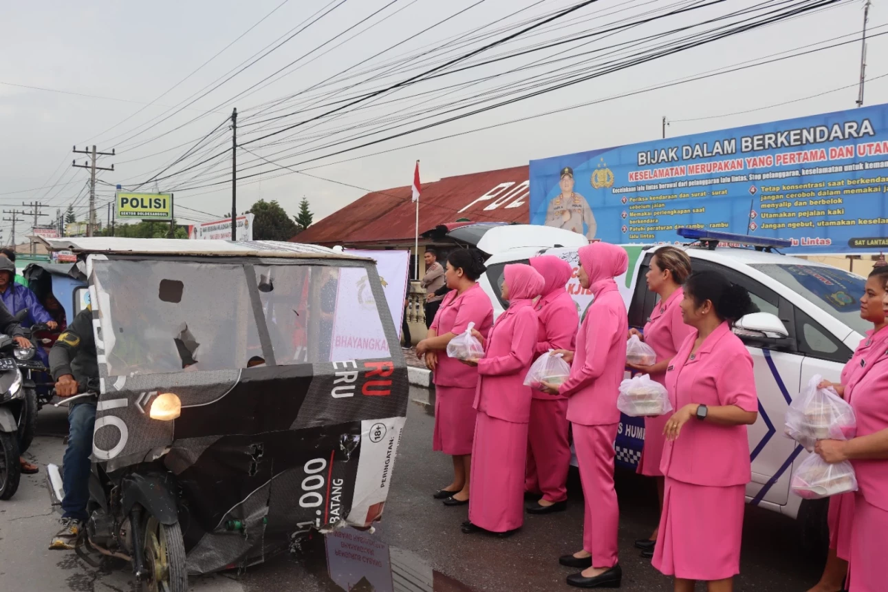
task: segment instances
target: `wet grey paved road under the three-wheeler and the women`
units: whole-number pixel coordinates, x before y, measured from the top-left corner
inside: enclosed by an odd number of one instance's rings
[[[422,396],[419,391],[414,394]],[[374,538],[377,543],[391,546],[380,546],[374,552],[383,563],[387,559],[392,565],[393,574],[388,581],[394,583],[374,582],[377,592],[386,588],[392,592],[431,592],[432,581],[435,592],[570,589],[564,584],[570,570],[559,567],[557,560],[559,555],[582,545],[583,500],[575,477],[567,512],[528,516],[525,527],[510,540],[466,536],[459,530],[459,524],[466,517],[465,509],[445,508],[430,496],[432,491],[448,484],[449,470],[448,458],[431,452],[432,422],[433,418],[422,407],[410,405],[385,521],[378,526]],[[54,409],[41,412],[41,436],[29,453],[32,460],[41,466],[61,460],[61,435],[66,425],[64,412]],[[57,516],[50,512],[43,478],[43,475],[23,477],[16,497],[0,504],[0,590],[131,590],[130,572],[123,562],[108,560],[96,569],[73,552],[46,549],[57,528]],[[630,592],[671,590],[670,580],[656,572],[632,548],[632,541],[650,532],[656,521],[654,491],[646,479],[622,472],[618,476],[618,490],[622,509],[622,589]],[[718,533],[713,532],[712,536]],[[315,540],[306,546],[305,556],[281,557],[242,574],[193,579],[192,588],[219,592],[275,589],[330,592],[343,589],[345,580],[354,586],[361,574],[369,580],[381,577],[372,561],[364,562],[370,567],[356,567],[361,565],[360,560],[350,566],[337,566],[336,561],[325,559],[323,547],[322,540]],[[328,565],[337,573],[328,575]],[[736,590],[804,592],[817,580],[820,569],[817,560],[803,556],[799,550],[798,531],[793,521],[748,508],[742,573]],[[334,581],[339,582],[338,588]]]

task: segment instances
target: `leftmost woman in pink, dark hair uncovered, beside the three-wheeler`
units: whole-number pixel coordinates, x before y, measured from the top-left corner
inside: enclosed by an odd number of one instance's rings
[[[484,271],[479,255],[465,249],[450,253],[444,276],[451,291],[441,301],[428,337],[416,345],[416,355],[424,356],[425,365],[434,372],[433,449],[453,457],[453,482],[434,494],[447,506],[469,503],[476,415],[472,402],[478,387],[478,371],[449,357],[447,344],[470,323],[482,336],[493,326],[493,305],[477,284]]]

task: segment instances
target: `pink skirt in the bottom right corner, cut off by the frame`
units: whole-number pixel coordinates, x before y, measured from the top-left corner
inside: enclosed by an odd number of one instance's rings
[[[855,493],[848,592],[884,592],[885,532],[888,512],[870,504],[860,492]]]

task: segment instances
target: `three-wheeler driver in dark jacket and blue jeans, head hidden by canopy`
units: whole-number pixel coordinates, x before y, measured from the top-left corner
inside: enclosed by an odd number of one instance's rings
[[[92,310],[85,308],[50,350],[50,372],[56,381],[58,396],[99,391],[99,362],[96,341],[92,334]],[[65,499],[62,528],[52,537],[51,549],[75,548],[83,524],[89,517],[86,504],[90,499],[90,454],[92,432],[96,423],[96,399],[87,397],[74,404],[67,414],[67,449],[62,464]]]

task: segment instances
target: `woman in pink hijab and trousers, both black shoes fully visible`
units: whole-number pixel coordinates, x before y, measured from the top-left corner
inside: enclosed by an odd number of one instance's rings
[[[591,290],[594,300],[576,336],[570,377],[560,388],[549,385],[549,389],[568,397],[567,420],[573,428],[586,508],[583,550],[559,562],[584,570],[567,577],[571,586],[619,588],[614,440],[620,424],[616,399],[625,372],[629,321],[614,277],[626,273],[629,256],[607,243],[580,247],[579,255],[580,284]]]

